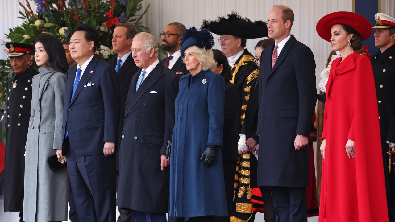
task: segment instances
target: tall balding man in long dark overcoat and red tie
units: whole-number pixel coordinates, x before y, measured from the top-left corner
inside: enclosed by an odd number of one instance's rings
[[[267,19],[275,44],[260,68],[258,185],[271,188],[277,222],[307,222],[308,136],[316,105],[312,51],[290,35],[294,15],[274,6]]]

